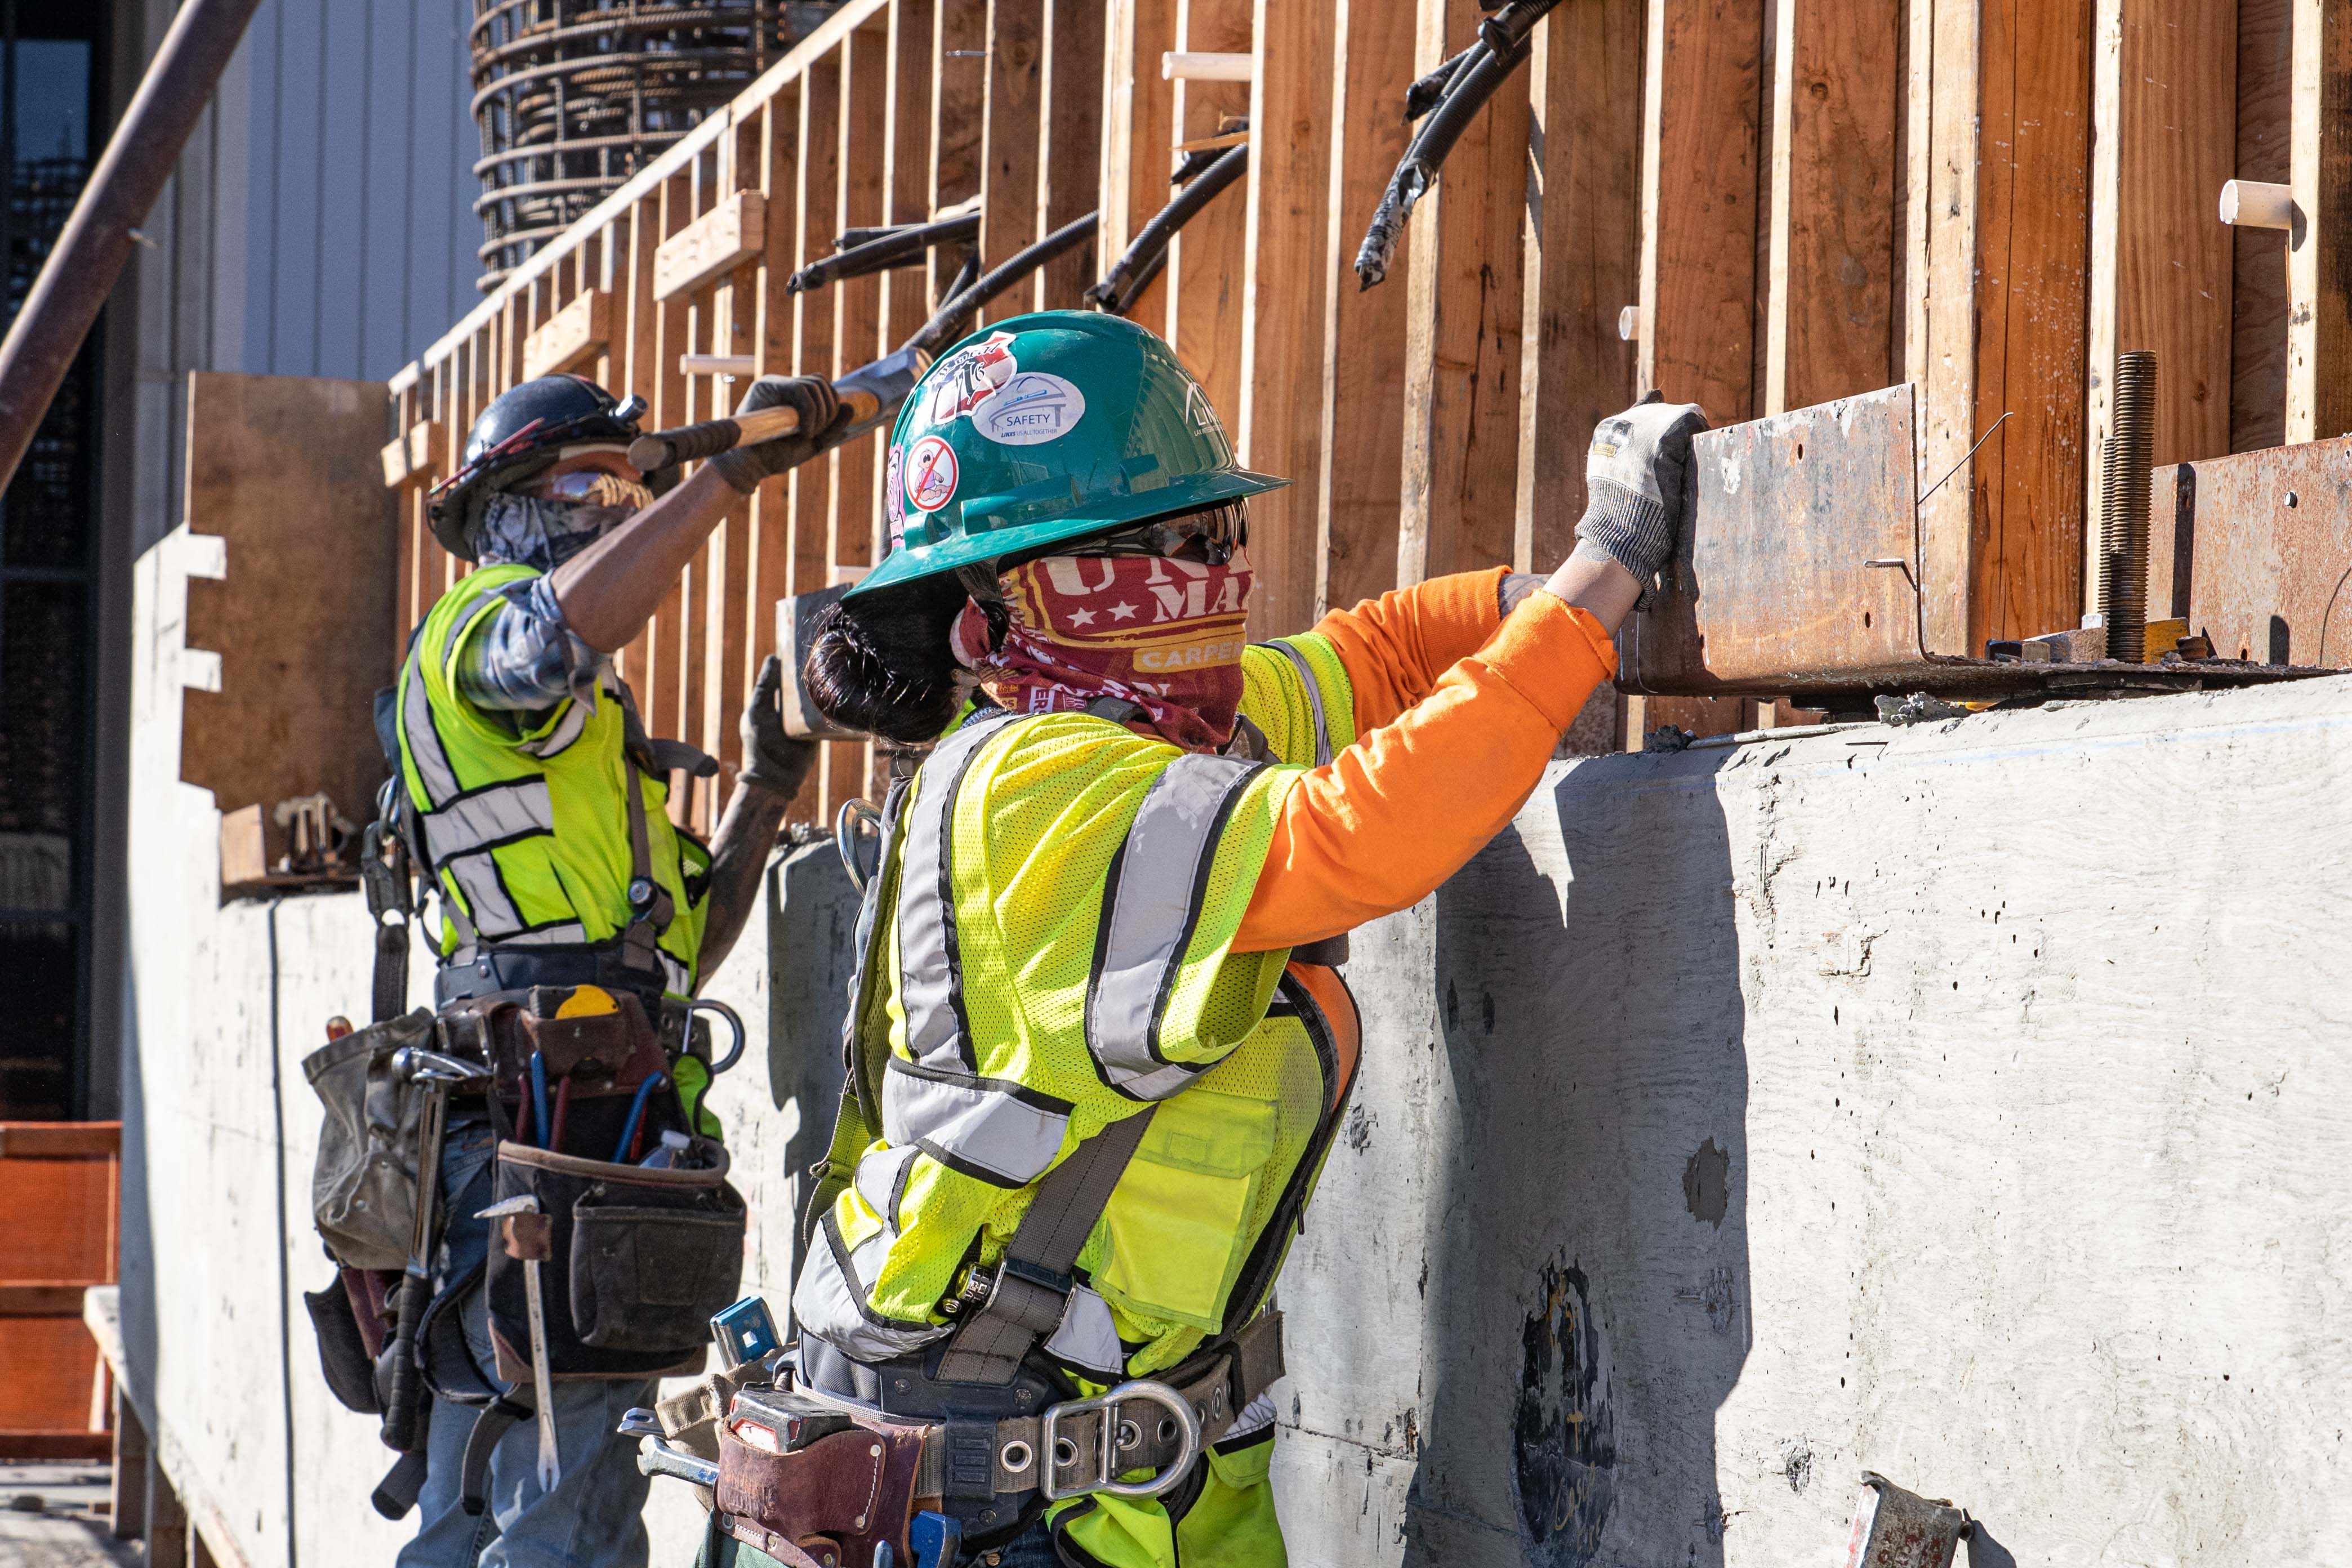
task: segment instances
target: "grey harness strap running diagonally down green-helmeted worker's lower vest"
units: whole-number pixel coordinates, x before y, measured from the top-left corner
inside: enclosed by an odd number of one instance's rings
[[[1061,1326],[1077,1286],[1070,1265],[1143,1143],[1152,1110],[1157,1107],[1112,1121],[1037,1182],[1037,1197],[1021,1215],[1021,1229],[1004,1248],[997,1272],[974,1272],[974,1284],[967,1286],[967,1300],[981,1291],[985,1295],[974,1300],[974,1316],[948,1340],[948,1354],[938,1361],[941,1382],[1007,1385],[1037,1340]]]

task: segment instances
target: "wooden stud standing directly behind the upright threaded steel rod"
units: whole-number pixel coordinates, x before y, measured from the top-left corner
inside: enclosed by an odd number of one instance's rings
[[[2230,451],[2230,228],[2237,28],[2199,0],[2098,0],[2091,56],[2091,320],[2084,418],[2084,607],[2098,604],[2098,482],[2114,355],[2157,355],[2152,461]]]

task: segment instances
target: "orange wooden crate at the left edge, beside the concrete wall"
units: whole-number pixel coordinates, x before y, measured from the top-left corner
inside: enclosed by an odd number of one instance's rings
[[[120,1173],[120,1121],[0,1121],[0,1450],[103,1410],[82,1291],[115,1281]]]

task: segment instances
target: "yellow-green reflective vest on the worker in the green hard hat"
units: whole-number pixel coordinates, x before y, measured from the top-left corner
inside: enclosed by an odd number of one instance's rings
[[[969,1269],[1002,1260],[1037,1182],[1145,1110],[1042,1349],[1117,1382],[1265,1305],[1352,1072],[1334,1006],[1350,1053],[1355,1020],[1336,973],[1310,985],[1287,950],[1232,938],[1284,797],[1355,741],[1355,712],[1324,637],[1254,646],[1242,668],[1242,715],[1275,762],[981,710],[891,792],[858,922],[854,1077],[816,1190],[833,1201],[793,1293],[802,1333],[868,1363],[955,1333]],[[1195,1528],[1272,1530],[1258,1406],[1209,1455],[1230,1507]],[[1073,1535],[1171,1528],[1150,1500],[1063,1514]]]

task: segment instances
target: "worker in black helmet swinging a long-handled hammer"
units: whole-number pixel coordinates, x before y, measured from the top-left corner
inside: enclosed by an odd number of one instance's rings
[[[435,538],[475,564],[416,630],[397,686],[402,809],[412,853],[435,879],[440,961],[435,1004],[485,997],[567,997],[597,1011],[626,1006],[675,1025],[720,966],[776,844],[786,806],[816,748],[781,726],[774,658],[743,710],[743,762],[708,846],[670,820],[675,771],[715,773],[701,752],[647,738],[612,654],[647,625],[713,527],[762,480],[807,461],[840,409],[821,378],[755,381],[739,411],[790,407],[802,437],[741,447],[677,482],[628,463],[642,404],[581,376],[541,376],[475,421],[463,465],[430,496]],[[675,1027],[673,1027],[675,1034]],[[701,1105],[708,1065],[677,1056],[677,1105],[694,1133],[715,1135]],[[477,1284],[492,1204],[494,1107],[454,1105],[445,1157],[440,1298],[426,1335],[426,1481],[405,1568],[473,1563],[647,1561],[640,1512],[647,1479],[633,1441],[614,1432],[652,1403],[642,1375],[553,1385],[560,1467],[543,1486],[536,1410],[494,1439],[463,1505],[466,1446],[485,1399],[513,1418],[529,1378],[499,1378],[487,1291]],[[524,1112],[527,1114],[527,1112]],[[574,1117],[574,1133],[586,1114]],[[513,1131],[513,1128],[510,1128]],[[541,1124],[527,1143],[555,1147]],[[557,1138],[550,1138],[557,1133]],[[602,1159],[602,1152],[595,1154]]]

